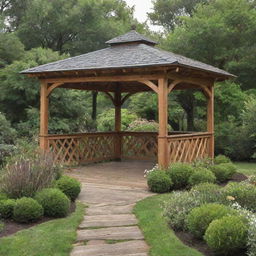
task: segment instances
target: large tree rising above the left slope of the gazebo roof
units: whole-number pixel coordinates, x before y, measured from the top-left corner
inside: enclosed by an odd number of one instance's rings
[[[132,9],[123,0],[30,0],[17,32],[26,49],[77,55],[102,48],[132,22]]]

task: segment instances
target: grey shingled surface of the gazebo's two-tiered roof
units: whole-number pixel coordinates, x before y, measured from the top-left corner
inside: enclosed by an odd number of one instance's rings
[[[156,42],[132,30],[106,42],[110,47],[22,71],[23,74],[86,71],[156,66],[183,66],[213,73],[233,75],[211,65],[154,47]]]

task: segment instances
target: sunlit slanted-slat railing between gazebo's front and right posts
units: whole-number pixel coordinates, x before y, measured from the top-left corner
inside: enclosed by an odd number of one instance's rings
[[[192,162],[209,157],[211,133],[193,133],[167,137],[169,163]]]

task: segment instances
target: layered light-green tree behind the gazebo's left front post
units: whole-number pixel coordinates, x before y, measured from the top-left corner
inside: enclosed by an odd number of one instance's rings
[[[0,109],[21,135],[28,135],[38,129],[39,82],[19,74],[33,66],[66,58],[50,49],[33,49],[24,58],[0,70]],[[91,122],[88,112],[88,92],[55,89],[50,97],[50,123],[52,133],[86,130]],[[87,99],[87,100],[86,100]],[[21,128],[24,127],[22,130]]]

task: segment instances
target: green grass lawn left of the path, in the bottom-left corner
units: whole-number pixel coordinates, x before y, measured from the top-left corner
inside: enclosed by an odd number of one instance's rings
[[[67,218],[56,219],[0,239],[1,256],[68,256],[76,239],[76,229],[84,216],[84,206]]]

